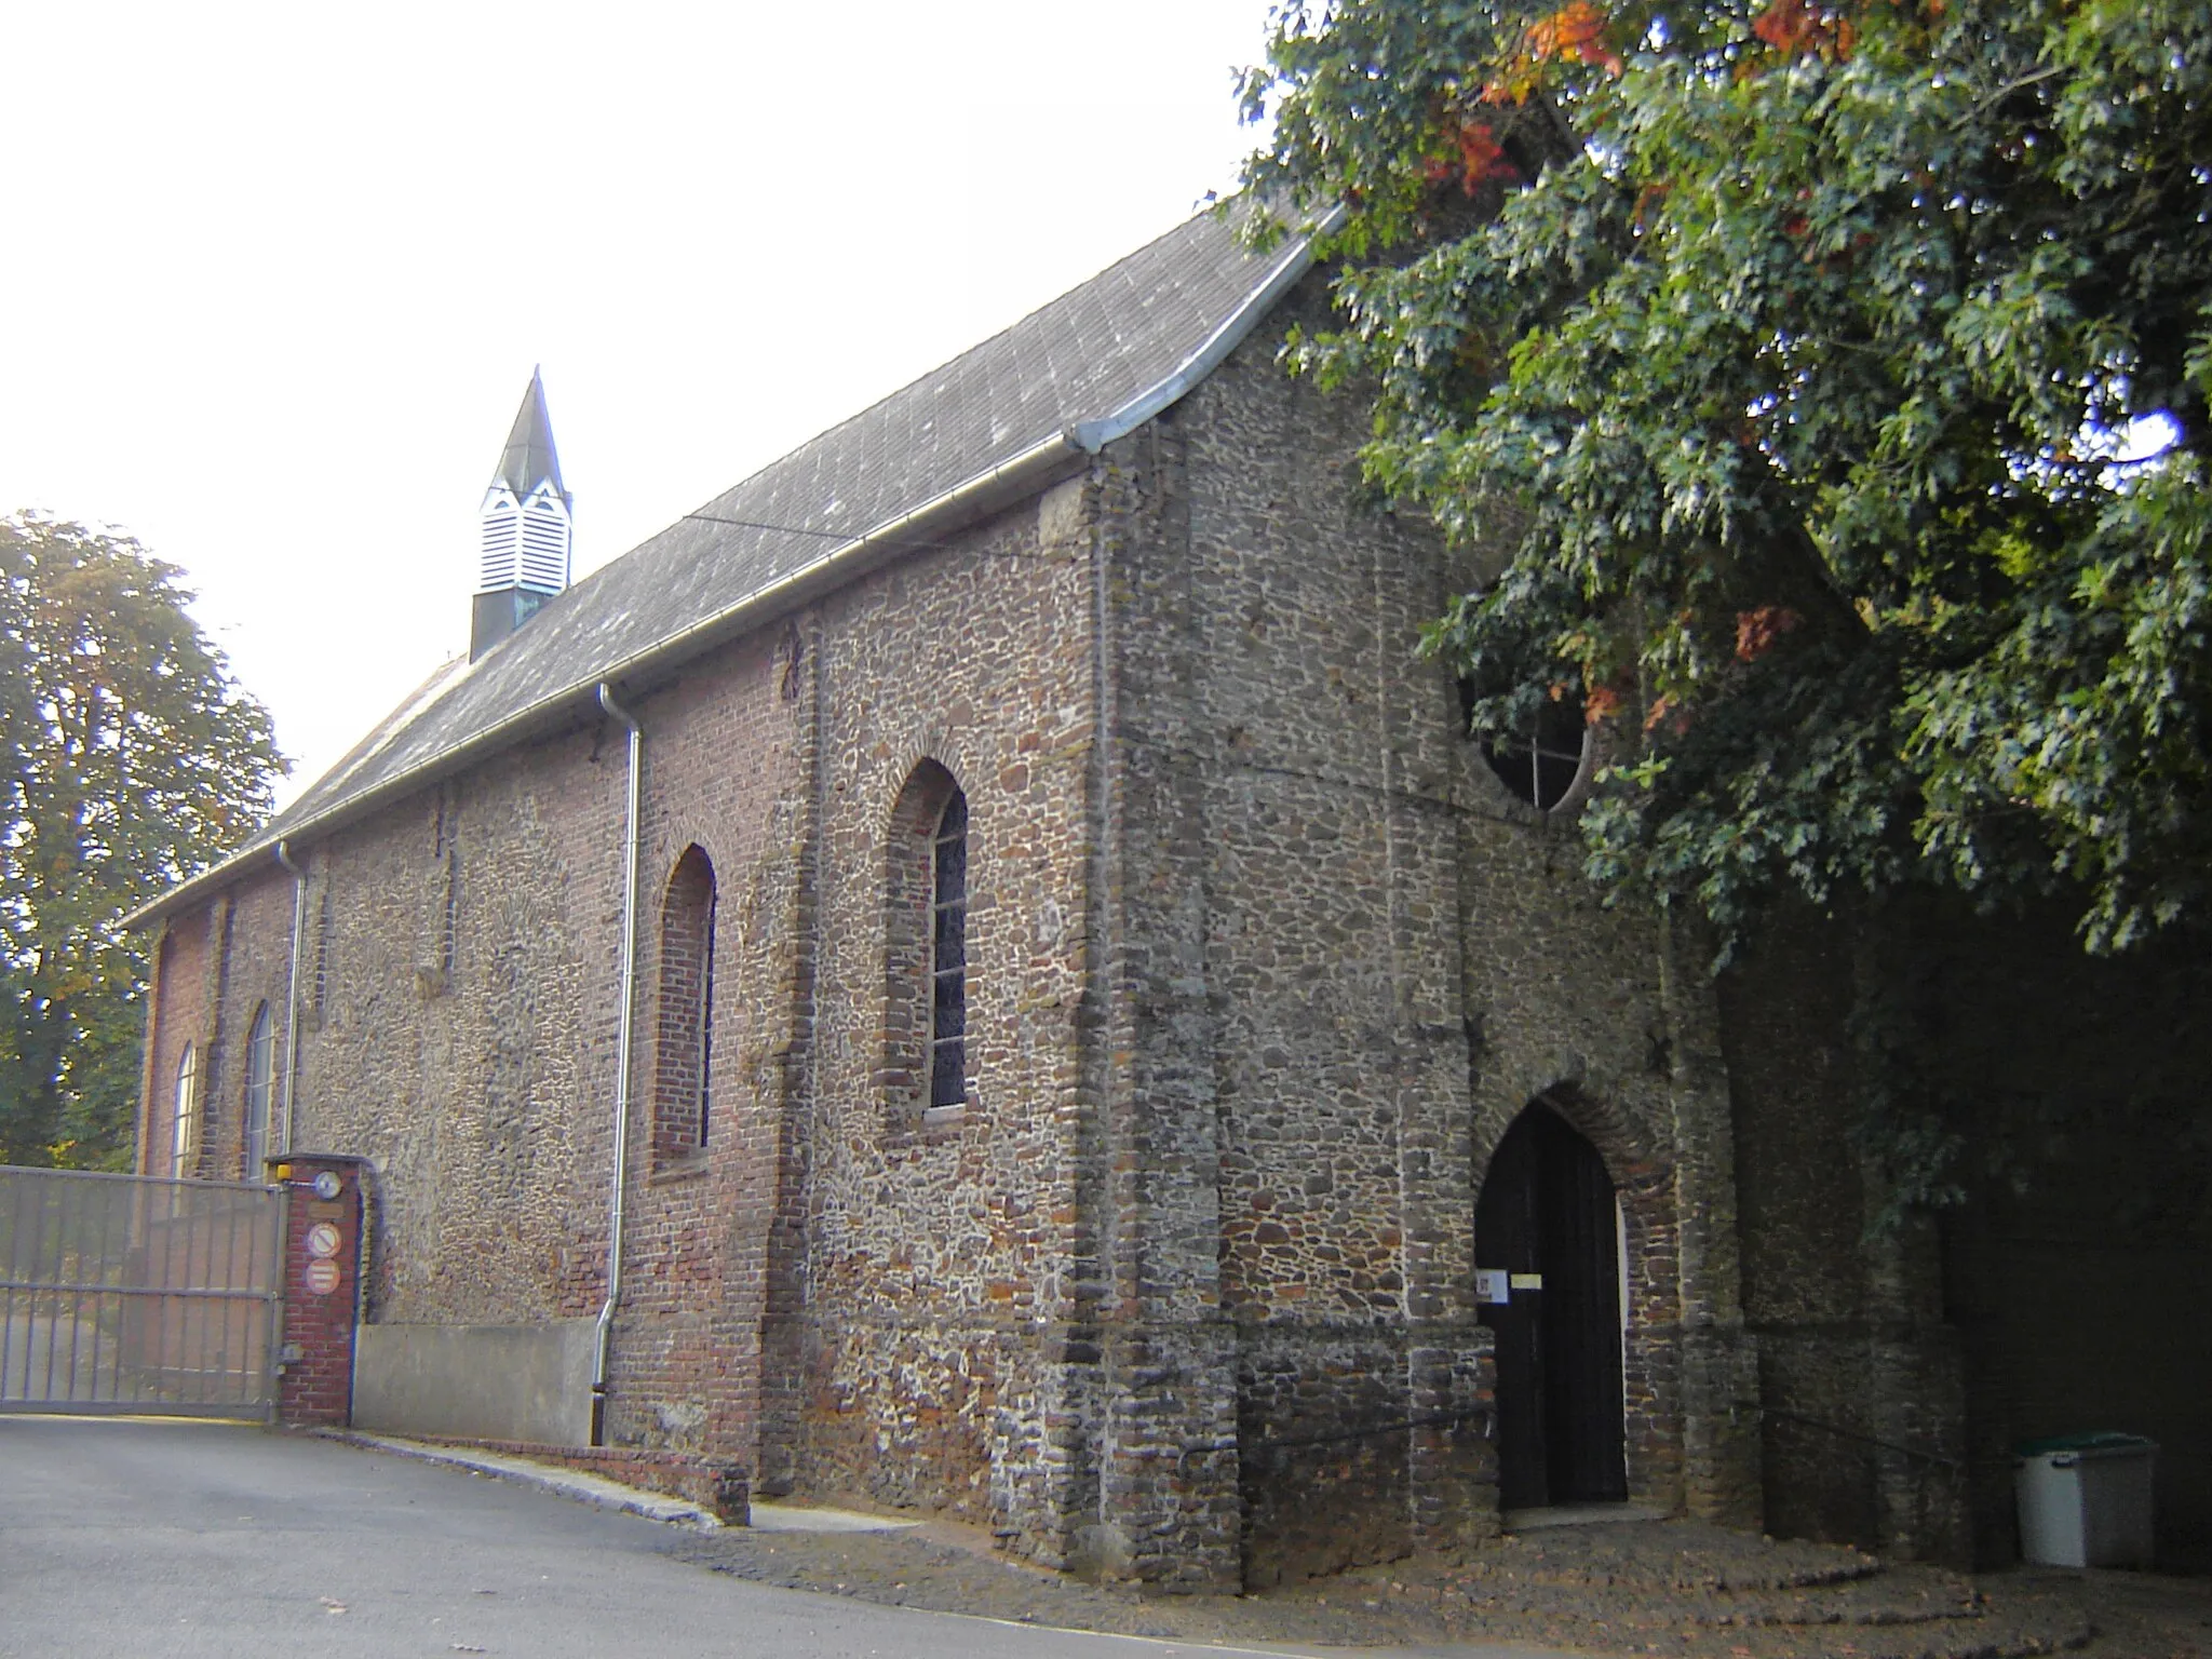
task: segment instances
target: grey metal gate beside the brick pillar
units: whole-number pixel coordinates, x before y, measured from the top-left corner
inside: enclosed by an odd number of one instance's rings
[[[283,1192],[0,1166],[0,1411],[268,1418]]]

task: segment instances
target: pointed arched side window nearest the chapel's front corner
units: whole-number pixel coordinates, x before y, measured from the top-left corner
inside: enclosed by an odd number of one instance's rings
[[[891,810],[885,894],[885,1084],[898,1115],[967,1106],[969,812],[936,761]]]

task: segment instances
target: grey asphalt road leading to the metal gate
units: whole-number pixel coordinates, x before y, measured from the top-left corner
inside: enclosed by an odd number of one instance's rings
[[[668,1559],[670,1537],[637,1515],[327,1440],[0,1416],[4,1659],[1225,1652],[745,1584]]]

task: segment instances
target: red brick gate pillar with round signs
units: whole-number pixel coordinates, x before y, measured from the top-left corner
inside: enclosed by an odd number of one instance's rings
[[[270,1159],[270,1179],[285,1192],[276,1367],[276,1420],[285,1427],[345,1425],[354,1416],[363,1168],[367,1159],[334,1152]]]

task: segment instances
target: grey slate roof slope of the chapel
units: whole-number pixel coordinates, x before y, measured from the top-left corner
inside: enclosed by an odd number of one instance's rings
[[[1307,261],[1303,241],[1254,254],[1217,215],[1188,219],[686,513],[549,599],[478,661],[447,664],[246,847],[131,920],[181,909],[243,863],[265,860],[281,838],[303,843],[376,799],[542,730],[584,708],[599,681],[706,650],[717,619],[741,619],[794,577],[993,469],[1055,440],[1071,456],[1095,451],[1203,378]],[[533,405],[542,409],[535,378],[518,431]]]

